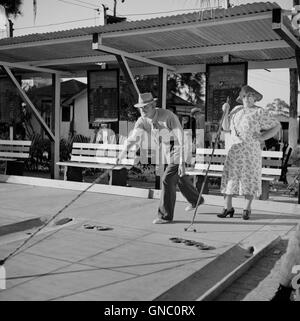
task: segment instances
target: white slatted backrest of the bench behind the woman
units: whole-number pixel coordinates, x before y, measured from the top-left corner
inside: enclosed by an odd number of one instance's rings
[[[207,169],[208,163],[211,158],[212,148],[197,148],[196,150],[196,163],[195,169]],[[215,149],[214,156],[210,165],[211,171],[222,172],[227,155],[225,149]],[[281,175],[282,166],[282,152],[262,151],[262,174],[263,175]]]

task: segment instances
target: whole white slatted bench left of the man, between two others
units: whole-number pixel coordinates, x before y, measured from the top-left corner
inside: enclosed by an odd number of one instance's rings
[[[132,148],[120,165],[115,166],[117,156],[122,150],[123,145],[120,144],[73,143],[70,161],[58,162],[57,165],[64,167],[64,180],[67,180],[68,167],[109,170],[109,184],[112,185],[113,170],[130,169],[137,163],[136,149]]]

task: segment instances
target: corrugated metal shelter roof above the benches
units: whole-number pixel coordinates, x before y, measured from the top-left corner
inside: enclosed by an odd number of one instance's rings
[[[278,4],[259,2],[226,10],[205,10],[1,39],[0,61],[33,63],[70,71],[78,70],[80,66],[73,62],[62,65],[57,61],[96,56],[99,61],[116,64],[111,55],[92,49],[94,33],[103,36],[105,46],[170,66],[221,63],[225,54],[230,54],[233,61],[293,58],[294,50],[272,30],[274,8],[279,8]],[[81,68],[97,68],[94,63],[81,63]],[[131,67],[146,65],[133,60],[129,64]]]

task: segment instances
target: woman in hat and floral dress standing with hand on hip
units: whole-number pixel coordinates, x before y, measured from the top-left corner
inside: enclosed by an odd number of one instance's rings
[[[231,133],[231,146],[224,164],[221,192],[225,197],[225,206],[218,217],[233,217],[233,195],[245,197],[242,218],[248,220],[251,215],[251,203],[261,194],[261,142],[276,135],[280,123],[266,110],[255,105],[262,95],[250,86],[243,86],[237,98],[242,105],[236,106],[230,113],[228,103],[223,105],[223,129]]]

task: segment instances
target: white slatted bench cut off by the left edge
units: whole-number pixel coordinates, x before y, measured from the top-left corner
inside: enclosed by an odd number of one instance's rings
[[[30,140],[0,140],[0,161],[5,162],[4,175],[10,174],[8,163],[24,163],[30,154]]]

